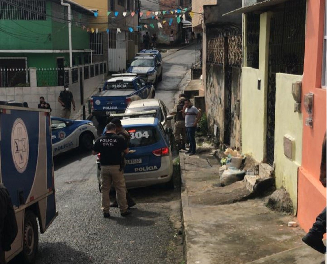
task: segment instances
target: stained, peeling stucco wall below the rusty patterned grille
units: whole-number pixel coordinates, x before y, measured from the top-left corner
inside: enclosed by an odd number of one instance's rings
[[[206,64],[205,104],[209,132],[217,126],[217,139],[224,140],[224,69],[221,65]]]

